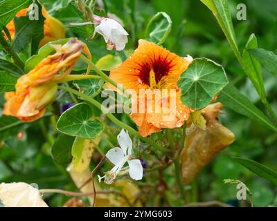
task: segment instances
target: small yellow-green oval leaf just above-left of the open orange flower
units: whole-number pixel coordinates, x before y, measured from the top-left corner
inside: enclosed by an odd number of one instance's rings
[[[120,66],[120,64],[122,64],[121,58],[114,55],[105,55],[96,62],[96,66],[98,68],[106,71],[113,70],[114,68]]]

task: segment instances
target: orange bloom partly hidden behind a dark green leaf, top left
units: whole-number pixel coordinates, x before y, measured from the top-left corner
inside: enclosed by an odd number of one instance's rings
[[[28,8],[22,9],[17,12],[17,17],[24,17],[28,12]],[[46,9],[42,7],[42,15],[45,17],[44,20],[44,38],[39,42],[39,46],[44,46],[44,44],[55,41],[58,39],[63,39],[65,37],[65,28],[62,22],[55,19],[51,15],[48,14]],[[10,32],[10,37],[12,39],[15,38],[15,22],[12,20],[6,28]]]

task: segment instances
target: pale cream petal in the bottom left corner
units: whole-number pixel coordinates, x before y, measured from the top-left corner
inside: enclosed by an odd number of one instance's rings
[[[4,207],[48,207],[39,190],[24,182],[1,183],[0,201]]]

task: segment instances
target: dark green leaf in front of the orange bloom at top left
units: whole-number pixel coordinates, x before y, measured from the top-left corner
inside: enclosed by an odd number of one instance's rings
[[[15,39],[12,42],[12,50],[21,52],[30,44],[31,55],[37,53],[39,41],[44,38],[44,16],[42,6],[39,5],[39,19],[30,20],[29,16],[15,17]]]

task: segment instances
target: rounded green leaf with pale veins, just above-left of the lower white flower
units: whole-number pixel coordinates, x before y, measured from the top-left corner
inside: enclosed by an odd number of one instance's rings
[[[96,138],[104,130],[98,119],[92,120],[93,111],[88,104],[76,104],[62,113],[57,121],[57,130],[70,136]]]

